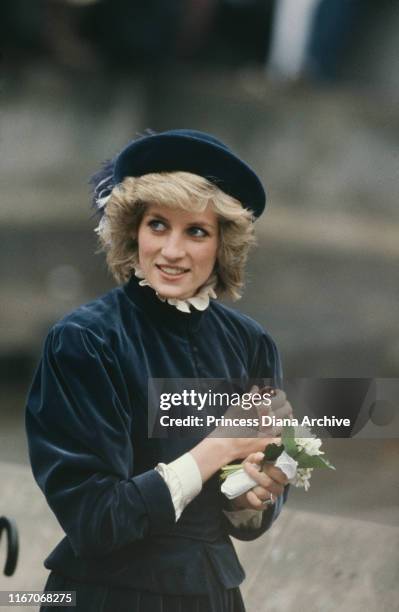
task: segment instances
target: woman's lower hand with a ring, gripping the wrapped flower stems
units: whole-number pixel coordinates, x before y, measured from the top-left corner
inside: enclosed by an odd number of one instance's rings
[[[261,452],[251,453],[243,462],[244,470],[257,482],[252,489],[233,499],[232,510],[258,510],[263,511],[268,508],[264,501],[277,497],[284,492],[284,486],[288,480],[284,472],[272,464],[265,464],[260,470],[260,463],[264,457]]]

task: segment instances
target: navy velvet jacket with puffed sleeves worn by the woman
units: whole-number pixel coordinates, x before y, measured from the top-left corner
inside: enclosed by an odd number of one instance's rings
[[[27,404],[34,476],[66,536],[45,561],[64,576],[164,593],[206,593],[244,578],[229,535],[236,528],[216,474],[175,523],[169,489],[153,468],[194,446],[148,438],[153,378],[272,378],[274,342],[247,316],[212,301],[182,313],[132,278],[50,330]]]

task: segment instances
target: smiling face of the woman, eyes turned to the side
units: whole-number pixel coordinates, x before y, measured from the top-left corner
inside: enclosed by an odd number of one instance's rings
[[[216,262],[216,213],[209,207],[196,213],[151,205],[139,227],[138,245],[140,266],[159,295],[192,297]]]

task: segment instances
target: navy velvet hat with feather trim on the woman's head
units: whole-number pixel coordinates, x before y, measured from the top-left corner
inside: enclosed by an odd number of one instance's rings
[[[102,212],[113,187],[127,176],[173,171],[203,176],[255,217],[265,208],[265,190],[255,172],[223,142],[196,130],[169,130],[132,140],[93,177],[96,208]]]

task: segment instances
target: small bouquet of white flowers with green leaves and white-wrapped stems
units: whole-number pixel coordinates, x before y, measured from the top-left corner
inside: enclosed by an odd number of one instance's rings
[[[322,457],[321,440],[312,435],[306,427],[284,427],[281,434],[281,444],[269,444],[260,464],[273,463],[287,476],[288,482],[307,491],[314,468],[335,467],[326,457]],[[221,470],[223,481],[221,490],[229,499],[234,499],[246,493],[257,483],[247,474],[242,464],[226,465]]]

